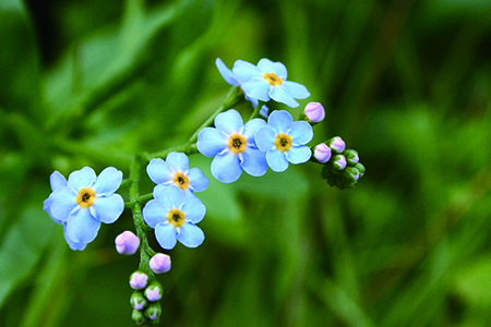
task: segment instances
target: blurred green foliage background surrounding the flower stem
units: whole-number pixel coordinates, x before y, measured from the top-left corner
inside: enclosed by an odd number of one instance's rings
[[[367,173],[345,191],[313,164],[221,184],[192,156],[211,179],[206,240],[168,252],[161,326],[491,326],[490,13],[484,0],[0,0],[0,326],[133,326],[139,258],[113,245],[134,230],[129,210],[73,252],[43,211],[49,174],[128,177],[127,155],[185,142],[229,89],[216,58],[285,63],[312,94],[294,116],[326,109],[311,145],[342,136]]]

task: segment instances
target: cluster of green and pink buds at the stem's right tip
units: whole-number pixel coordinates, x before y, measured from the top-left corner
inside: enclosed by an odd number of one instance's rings
[[[364,174],[364,166],[359,162],[358,153],[346,149],[345,142],[333,137],[314,148],[314,158],[323,165],[321,175],[330,186],[339,190],[352,189]]]

